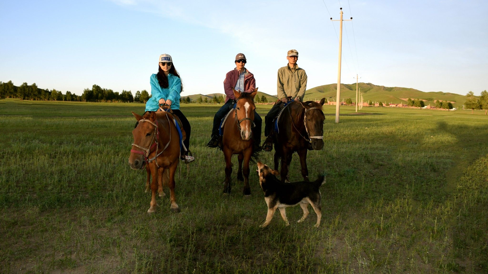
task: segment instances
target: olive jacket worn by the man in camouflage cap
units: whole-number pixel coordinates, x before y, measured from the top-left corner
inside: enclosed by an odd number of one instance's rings
[[[305,70],[295,64],[292,70],[288,65],[278,70],[278,99],[291,96],[291,98],[300,97],[303,100],[306,89]]]

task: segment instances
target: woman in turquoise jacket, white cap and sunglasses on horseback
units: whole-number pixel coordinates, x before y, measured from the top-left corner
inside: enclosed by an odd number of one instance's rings
[[[178,116],[183,124],[186,139],[183,144],[188,149],[190,144],[190,123],[180,111],[180,93],[183,91],[182,80],[173,65],[173,59],[169,54],[162,54],[159,57],[158,73],[151,75],[151,95],[147,100],[146,111],[159,111],[159,104],[168,104],[173,114]],[[195,157],[188,155],[182,148],[182,160],[186,163],[195,160]]]

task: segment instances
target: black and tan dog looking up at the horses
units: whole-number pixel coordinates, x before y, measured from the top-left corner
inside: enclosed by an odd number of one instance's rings
[[[281,216],[285,221],[286,225],[290,225],[288,218],[286,218],[285,208],[300,204],[304,215],[298,222],[303,222],[308,216],[308,204],[310,204],[317,214],[317,223],[315,227],[319,227],[320,219],[322,218],[321,213],[321,194],[320,186],[325,182],[324,176],[319,176],[319,178],[313,182],[294,182],[294,183],[282,183],[276,175],[280,173],[276,170],[270,169],[267,165],[262,162],[258,162],[258,173],[259,173],[259,184],[264,191],[264,200],[268,205],[268,214],[266,215],[266,221],[261,227],[266,227],[276,209],[280,210]]]

